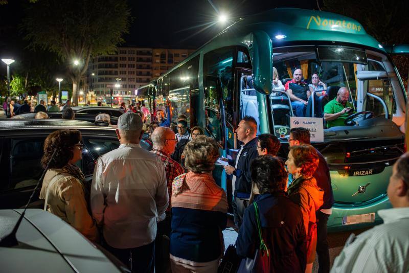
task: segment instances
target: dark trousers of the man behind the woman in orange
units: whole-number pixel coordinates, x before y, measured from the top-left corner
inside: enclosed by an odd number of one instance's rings
[[[318,255],[319,273],[329,272],[329,251],[327,240],[327,222],[329,215],[321,211],[316,212],[317,218],[317,241],[316,254]]]

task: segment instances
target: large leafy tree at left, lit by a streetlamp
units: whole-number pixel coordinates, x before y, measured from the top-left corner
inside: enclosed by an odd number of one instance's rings
[[[130,11],[126,0],[41,0],[26,8],[22,29],[33,48],[57,53],[73,83],[86,75],[91,56],[112,53],[128,32]]]

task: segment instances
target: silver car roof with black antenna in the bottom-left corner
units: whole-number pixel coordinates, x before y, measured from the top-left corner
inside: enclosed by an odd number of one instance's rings
[[[14,227],[23,210],[0,210],[0,236]],[[28,209],[17,230],[17,246],[0,247],[5,272],[120,272],[100,249],[61,218]]]

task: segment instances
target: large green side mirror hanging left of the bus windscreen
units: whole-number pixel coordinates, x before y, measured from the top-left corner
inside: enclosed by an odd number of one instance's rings
[[[270,36],[264,31],[255,31],[253,43],[249,47],[252,58],[254,88],[265,95],[272,89],[272,43]]]

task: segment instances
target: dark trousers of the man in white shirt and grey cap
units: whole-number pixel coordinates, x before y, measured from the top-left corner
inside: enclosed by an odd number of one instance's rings
[[[128,266],[132,272],[153,273],[155,269],[155,242],[134,248],[115,248],[105,243],[113,256]]]

